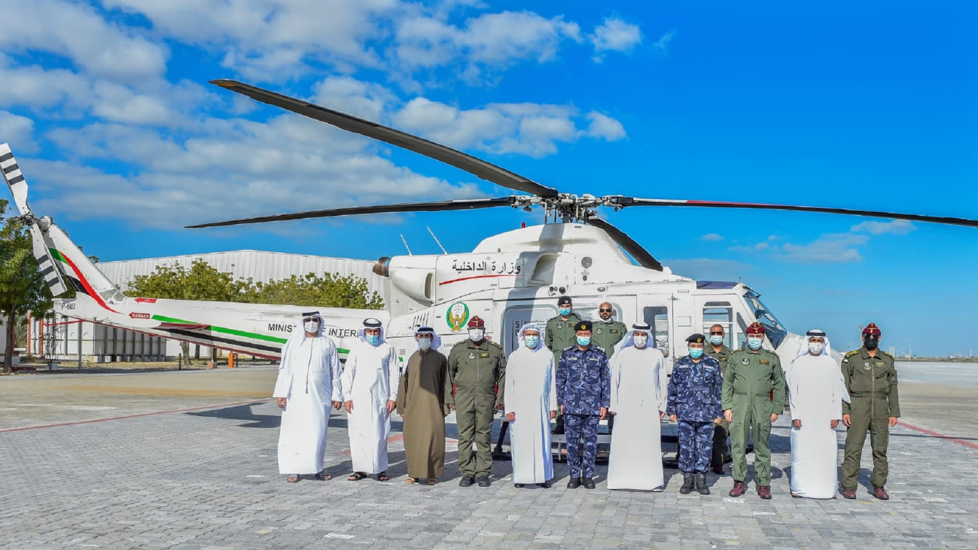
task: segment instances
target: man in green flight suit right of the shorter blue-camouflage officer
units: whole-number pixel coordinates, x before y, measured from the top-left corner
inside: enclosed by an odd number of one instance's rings
[[[771,423],[784,410],[784,372],[778,354],[761,347],[764,326],[747,327],[747,344],[727,359],[724,375],[724,418],[730,424],[733,447],[733,488],[730,495],[746,490],[747,438],[754,433],[754,482],[757,495],[771,498]]]

